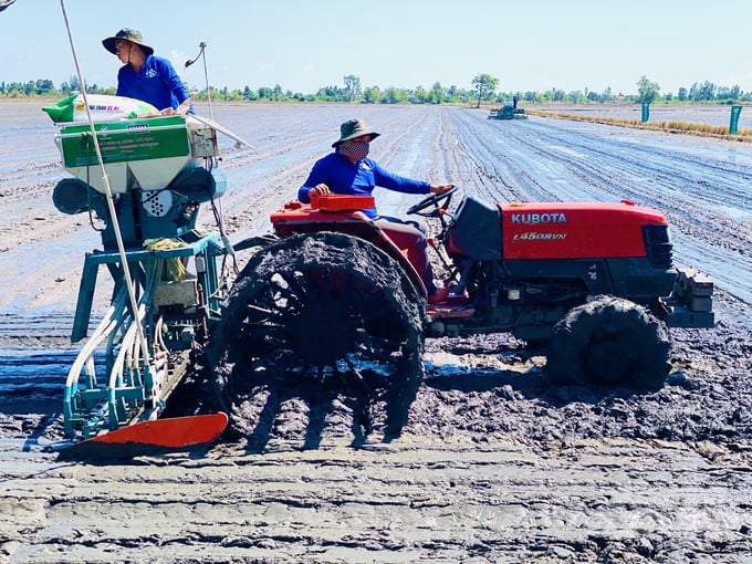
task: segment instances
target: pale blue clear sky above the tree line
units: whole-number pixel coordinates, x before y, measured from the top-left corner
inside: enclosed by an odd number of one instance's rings
[[[637,92],[646,75],[661,93],[710,81],[752,91],[752,1],[725,0],[64,0],[88,84],[114,86],[119,62],[102,39],[142,31],[156,54],[203,88],[207,43],[213,87],[280,85],[315,93],[361,85]],[[0,12],[0,81],[75,74],[60,0],[17,0]]]

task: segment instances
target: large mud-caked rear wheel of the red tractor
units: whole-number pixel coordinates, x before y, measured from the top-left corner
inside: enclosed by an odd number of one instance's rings
[[[385,434],[397,435],[422,379],[424,302],[397,262],[362,239],[273,243],[240,273],[212,332],[220,401],[232,414],[273,382],[337,382],[385,396]]]

